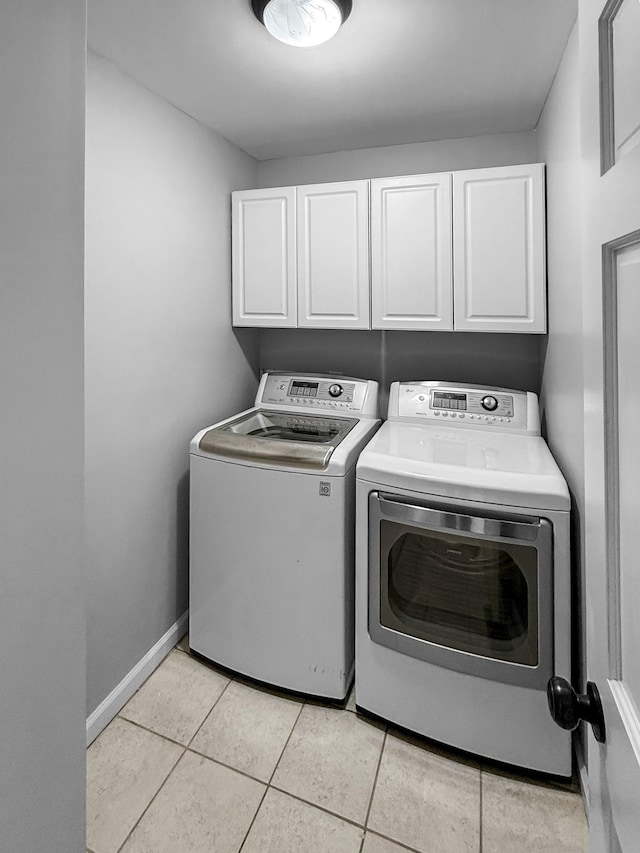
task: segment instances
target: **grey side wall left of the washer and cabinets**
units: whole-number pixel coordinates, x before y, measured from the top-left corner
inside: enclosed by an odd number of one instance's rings
[[[257,163],[90,54],[88,711],[188,606],[189,441],[252,402],[231,329],[230,192]]]

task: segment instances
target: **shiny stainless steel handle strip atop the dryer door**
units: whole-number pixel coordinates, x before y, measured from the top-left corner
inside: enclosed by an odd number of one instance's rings
[[[406,503],[402,499],[380,494],[380,511],[387,518],[417,524],[432,530],[454,530],[492,539],[535,541],[540,535],[540,520],[528,517],[513,521],[489,516],[475,516],[432,509]]]

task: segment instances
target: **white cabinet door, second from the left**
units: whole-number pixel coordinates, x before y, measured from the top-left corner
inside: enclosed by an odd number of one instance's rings
[[[296,191],[298,326],[368,329],[369,182]]]

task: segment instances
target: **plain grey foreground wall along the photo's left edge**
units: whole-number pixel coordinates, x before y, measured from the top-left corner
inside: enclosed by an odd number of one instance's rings
[[[84,0],[0,14],[0,850],[84,850]]]

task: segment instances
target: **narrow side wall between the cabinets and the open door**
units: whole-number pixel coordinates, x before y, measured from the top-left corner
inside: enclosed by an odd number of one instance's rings
[[[542,373],[547,440],[573,499],[574,679],[584,673],[584,377],[581,276],[582,163],[578,26],[538,125],[547,163],[549,336]]]

